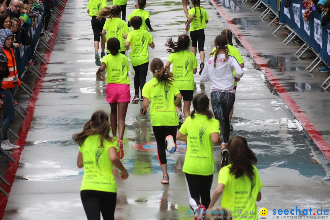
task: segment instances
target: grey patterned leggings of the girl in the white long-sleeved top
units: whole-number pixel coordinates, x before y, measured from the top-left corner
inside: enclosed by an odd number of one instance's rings
[[[220,122],[220,136],[228,143],[230,135],[229,114],[235,103],[235,94],[230,92],[211,92],[214,116]]]

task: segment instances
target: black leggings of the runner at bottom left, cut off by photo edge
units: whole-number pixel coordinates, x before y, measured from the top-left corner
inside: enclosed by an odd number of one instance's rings
[[[104,220],[115,219],[117,193],[82,190],[80,197],[87,220],[100,220],[100,211]]]

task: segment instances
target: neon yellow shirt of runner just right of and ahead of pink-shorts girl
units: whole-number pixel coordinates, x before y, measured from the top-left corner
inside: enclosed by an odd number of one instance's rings
[[[149,62],[148,45],[152,43],[152,35],[142,29],[133,30],[127,34],[126,42],[130,43],[132,51],[129,59],[132,66],[138,66]]]

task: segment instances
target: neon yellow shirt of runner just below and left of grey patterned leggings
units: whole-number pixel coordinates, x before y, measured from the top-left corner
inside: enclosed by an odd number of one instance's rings
[[[194,175],[212,175],[214,173],[212,133],[220,133],[220,123],[215,118],[196,114],[187,117],[179,131],[187,137],[187,151],[182,171]]]

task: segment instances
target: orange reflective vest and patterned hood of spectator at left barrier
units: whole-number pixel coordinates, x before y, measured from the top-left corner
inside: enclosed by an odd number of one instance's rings
[[[18,79],[17,68],[16,68],[16,59],[13,46],[8,48],[5,46],[5,42],[8,37],[13,36],[14,34],[11,30],[3,28],[0,30],[0,48],[4,51],[7,62],[9,76],[5,77],[2,80],[2,86],[4,89],[14,88],[16,85],[20,85],[20,80]]]

